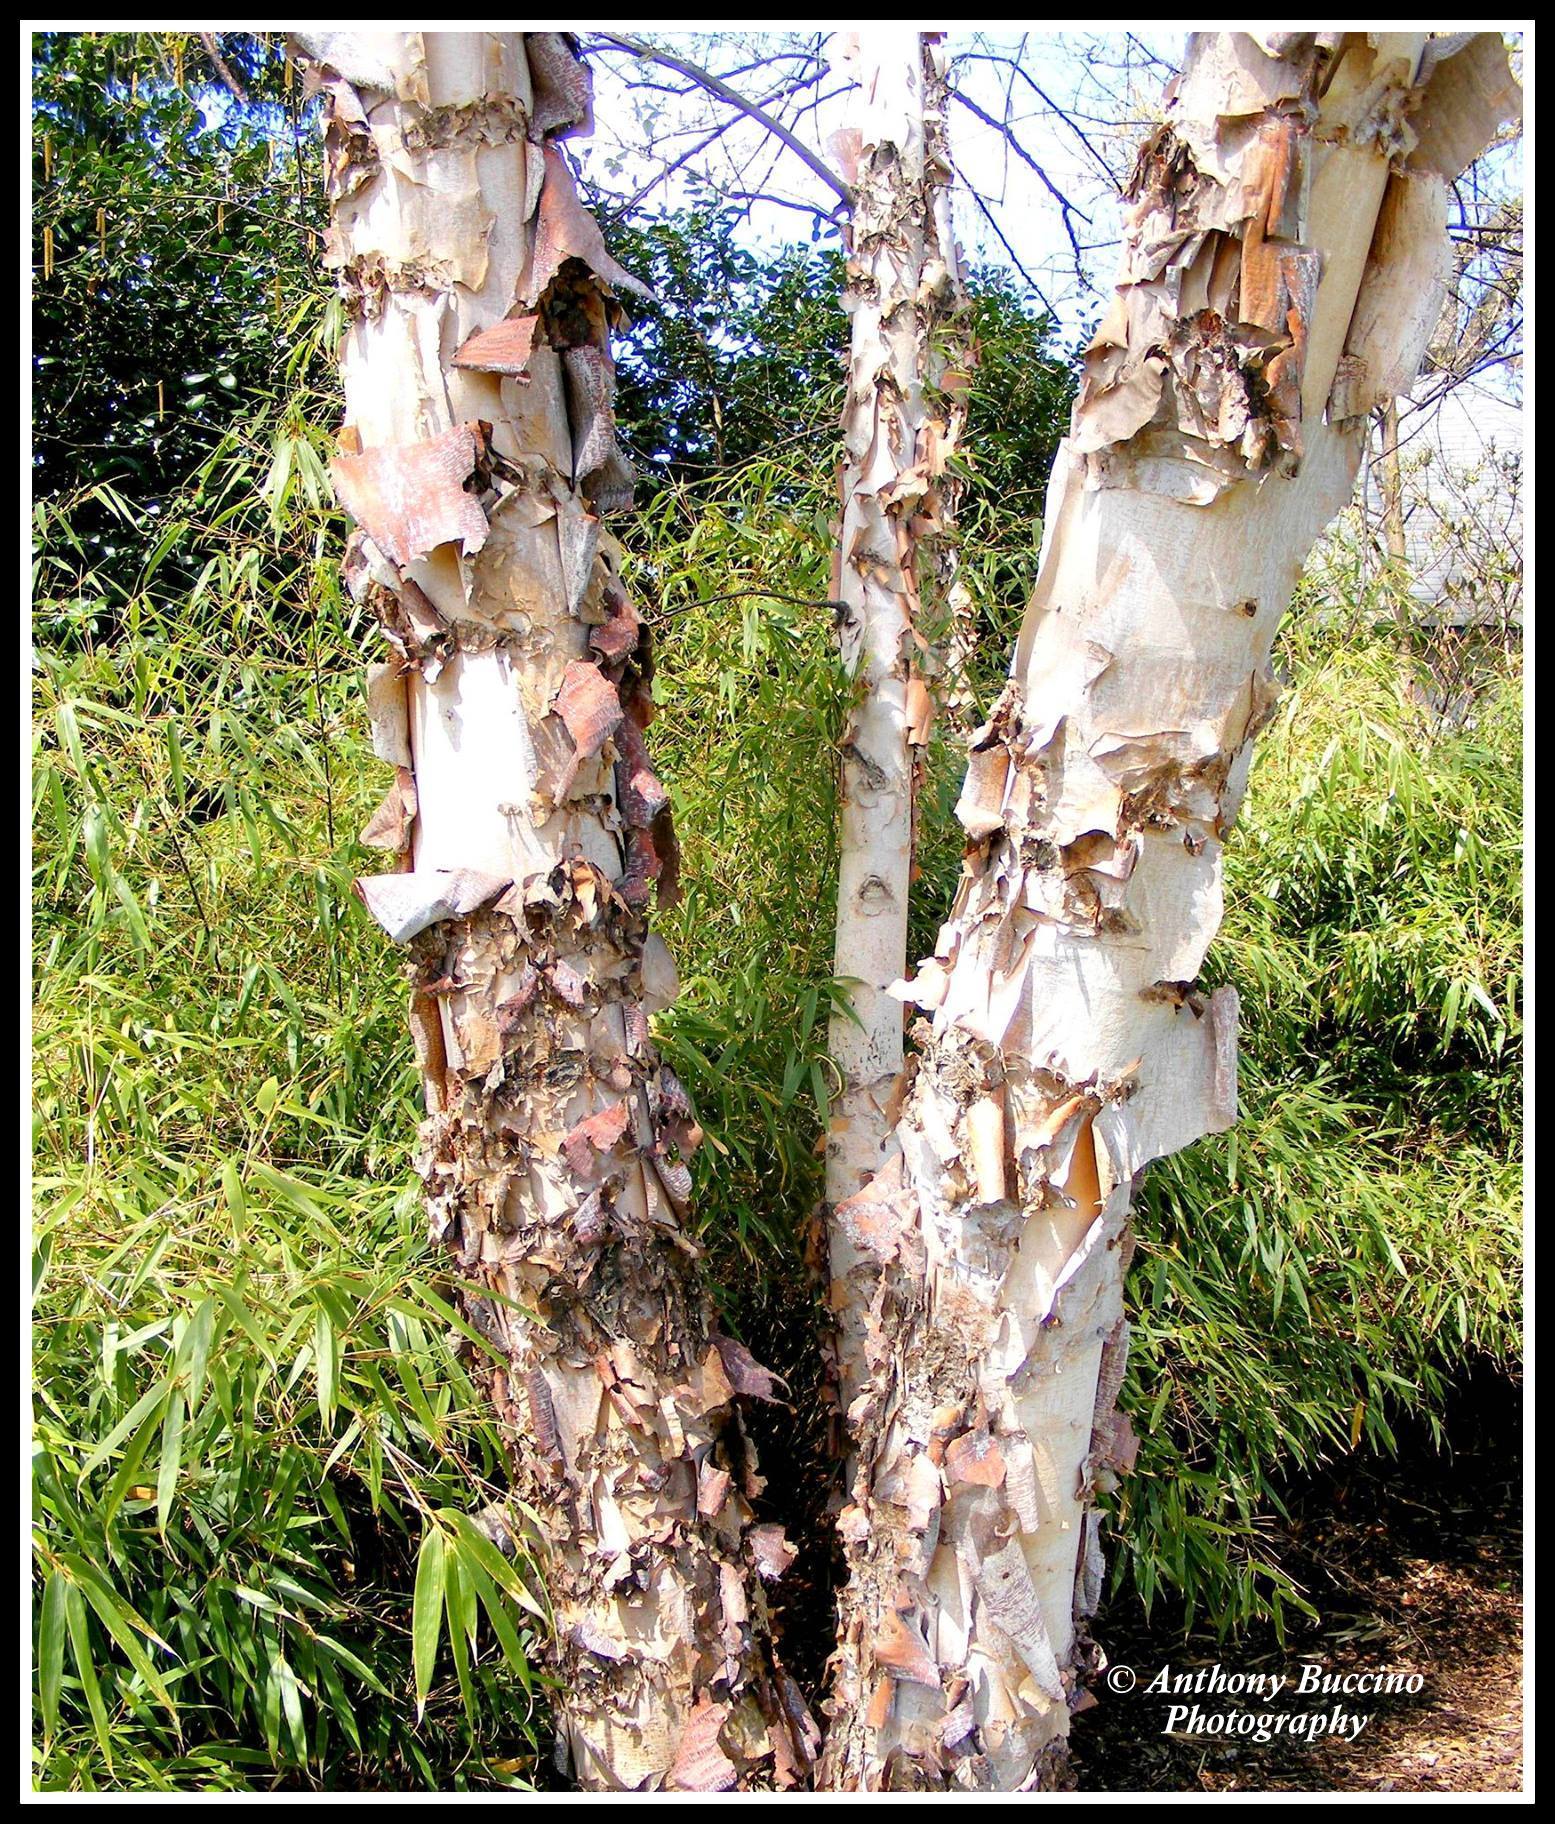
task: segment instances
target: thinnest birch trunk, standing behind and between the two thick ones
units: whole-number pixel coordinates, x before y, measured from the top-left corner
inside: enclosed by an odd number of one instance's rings
[[[870,27],[835,44],[855,84],[855,126],[833,140],[853,190],[848,259],[848,401],[842,525],[833,596],[842,664],[857,680],[842,735],[837,976],[853,978],[855,1020],[831,1021],[842,1073],[826,1142],[829,1206],[853,1197],[891,1142],[902,1067],[917,755],[933,720],[921,565],[946,596],[946,456],[961,430],[935,336],[961,297],[950,221],[944,47],[937,35]],[[946,385],[952,390],[946,390]],[[862,1375],[859,1255],[831,1226],[831,1308],[846,1410]],[[868,1268],[868,1262],[864,1262]]]

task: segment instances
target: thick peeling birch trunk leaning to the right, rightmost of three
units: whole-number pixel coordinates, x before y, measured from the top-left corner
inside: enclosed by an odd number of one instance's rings
[[[1141,148],[961,888],[904,990],[901,1155],[837,1211],[875,1286],[824,1784],[1065,1778],[1094,1498],[1134,1456],[1130,1193],[1236,1113],[1236,994],[1194,978],[1271,642],[1435,326],[1444,179],[1511,95],[1497,36],[1200,35]]]

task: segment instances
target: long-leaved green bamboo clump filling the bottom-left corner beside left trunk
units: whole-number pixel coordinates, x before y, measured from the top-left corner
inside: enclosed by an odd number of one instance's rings
[[[489,1786],[496,1744],[532,1755],[543,1607],[463,1518],[458,1691],[423,1718],[419,1631],[414,1689],[405,1663],[417,1521],[441,1538],[432,1503],[498,1487],[448,1346],[485,1344],[428,1282],[412,1204],[266,1162],[288,1107],[266,1087],[219,1171],[148,1147],[38,1176],[44,1789]]]

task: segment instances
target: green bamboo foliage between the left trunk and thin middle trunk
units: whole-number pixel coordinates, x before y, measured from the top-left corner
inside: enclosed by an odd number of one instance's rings
[[[654,753],[684,850],[685,897],[660,917],[682,994],[660,1043],[709,1135],[696,1158],[707,1238],[789,1260],[820,1195],[826,1029],[840,1005],[819,916],[837,866],[844,711],[828,516],[788,452],[665,483],[633,525],[631,582],[658,646]]]

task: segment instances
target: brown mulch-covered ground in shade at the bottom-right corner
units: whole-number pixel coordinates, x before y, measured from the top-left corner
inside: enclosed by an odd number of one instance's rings
[[[1298,1620],[1282,1647],[1272,1631],[1218,1647],[1212,1632],[1183,1640],[1172,1618],[1147,1623],[1138,1605],[1096,1622],[1114,1680],[1074,1722],[1081,1791],[1396,1791],[1522,1789],[1520,1410],[1506,1381],[1467,1388],[1449,1415],[1458,1443],[1438,1456],[1426,1437],[1400,1437],[1398,1463],[1345,1459],[1292,1490],[1291,1523],[1274,1529],[1282,1563],[1322,1620]],[[1415,1694],[1169,1696],[1145,1687],[1210,1669],[1300,1678],[1325,1673],[1418,1673]],[[1287,1715],[1340,1704],[1371,1722],[1354,1740],[1276,1735],[1165,1733],[1170,1707]]]

